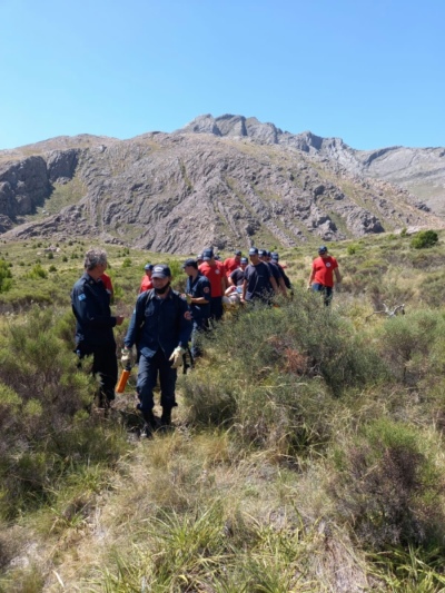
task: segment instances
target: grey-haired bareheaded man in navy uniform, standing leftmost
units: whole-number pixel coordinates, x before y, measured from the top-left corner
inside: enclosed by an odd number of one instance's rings
[[[100,276],[107,269],[107,253],[90,249],[85,258],[85,274],[71,291],[76,317],[76,352],[79,358],[92,355],[91,373],[99,376],[99,407],[107,408],[115,399],[118,380],[116,342],[112,328],[123,317],[112,316],[110,294]]]

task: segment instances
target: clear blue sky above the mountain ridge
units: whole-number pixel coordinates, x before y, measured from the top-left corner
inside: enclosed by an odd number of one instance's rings
[[[0,0],[0,149],[257,117],[445,146],[445,0]]]

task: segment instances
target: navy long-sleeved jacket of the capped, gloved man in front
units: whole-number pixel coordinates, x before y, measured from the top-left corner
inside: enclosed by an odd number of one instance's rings
[[[155,290],[146,290],[138,296],[123,343],[127,348],[136,344],[147,358],[159,348],[169,358],[177,346],[187,348],[191,327],[187,302],[179,293],[170,288],[166,298],[159,298]]]

